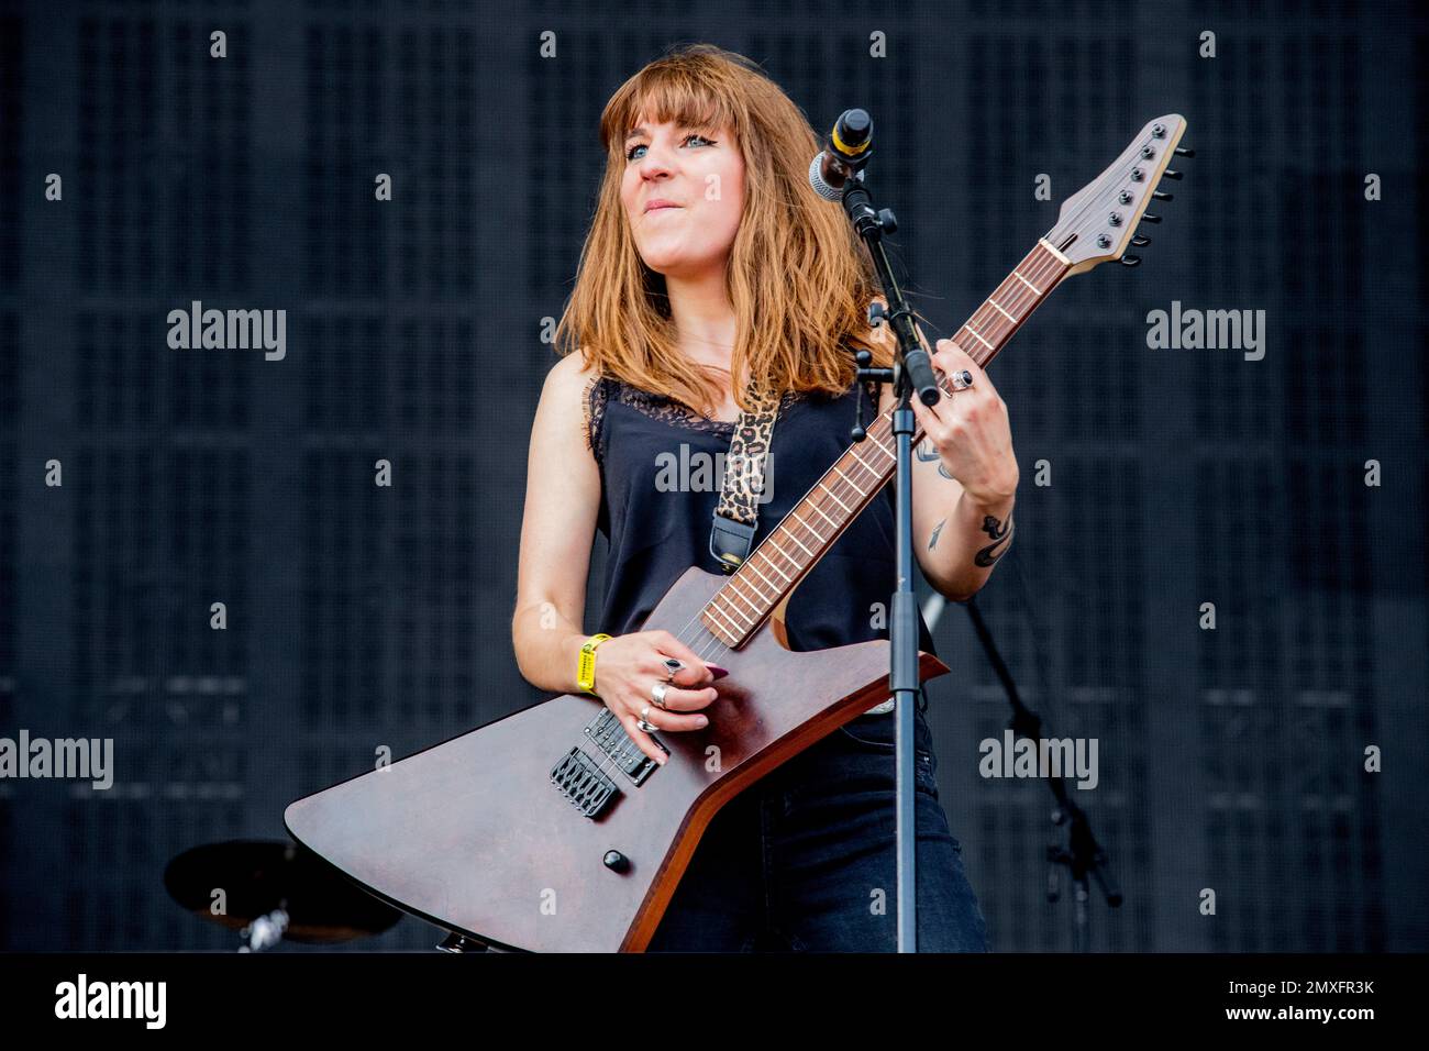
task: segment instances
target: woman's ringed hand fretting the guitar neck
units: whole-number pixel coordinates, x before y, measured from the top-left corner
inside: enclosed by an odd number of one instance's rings
[[[973,502],[990,506],[1010,499],[1017,489],[1017,458],[1012,452],[1006,402],[982,366],[953,340],[937,340],[930,357],[945,376],[966,369],[973,383],[950,393],[943,390],[930,406],[909,399],[923,435]]]

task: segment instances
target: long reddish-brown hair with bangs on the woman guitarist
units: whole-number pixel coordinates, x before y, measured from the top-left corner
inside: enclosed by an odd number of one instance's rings
[[[745,202],[726,272],[737,319],[730,372],[679,350],[664,276],[646,266],[630,235],[620,203],[623,146],[642,114],[730,127],[739,140]],[[867,349],[875,365],[892,363],[892,340],[870,339],[867,329],[867,305],[880,299],[867,249],[843,209],[809,186],[819,139],[753,61],[713,44],[666,53],[606,103],[600,144],[606,174],[556,326],[557,353],[580,349],[587,367],[710,415],[730,375],[772,392],[840,395],[855,379],[853,349]],[[742,386],[733,395],[742,409],[753,408]]]

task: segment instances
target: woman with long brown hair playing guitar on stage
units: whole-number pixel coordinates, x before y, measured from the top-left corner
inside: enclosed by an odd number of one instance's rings
[[[527,681],[580,692],[589,558],[604,533],[599,628],[610,638],[593,691],[663,762],[640,721],[667,734],[706,725],[723,671],[670,632],[636,631],[689,566],[720,568],[709,551],[719,478],[676,472],[672,486],[672,465],[727,453],[750,382],[782,392],[759,506],[767,532],[847,449],[856,400],[867,423],[893,403],[885,388],[875,406],[850,347],[877,365],[890,350],[867,329],[877,286],[866,250],[809,186],[819,142],[753,63],[706,44],[666,54],[610,99],[600,139],[609,160],[556,333],[563,357],[532,429],[512,635]],[[1012,541],[1017,463],[986,373],[947,340],[933,365],[972,383],[933,406],[913,399],[926,435],[915,546],[927,581],[960,601]],[[792,649],[886,638],[892,536],[885,488],[792,596]],[[919,632],[935,652],[922,616]],[[917,947],[986,951],[922,709],[915,722]],[[860,715],[737,795],[706,829],[649,949],[893,949],[893,716]]]

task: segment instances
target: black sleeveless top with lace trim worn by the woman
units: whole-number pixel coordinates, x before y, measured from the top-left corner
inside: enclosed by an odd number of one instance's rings
[[[863,383],[855,382],[840,396],[785,393],[766,465],[769,499],[757,505],[750,551],[849,448],[856,398],[863,399],[867,428],[877,419],[877,405]],[[692,565],[723,575],[709,538],[719,503],[722,460],[716,455],[729,455],[735,423],[604,376],[587,385],[584,408],[587,440],[600,466],[597,528],[610,541],[593,631],[624,635],[640,631],[656,602]],[[785,622],[790,649],[889,638],[896,585],[893,486],[887,485],[790,596]],[[922,612],[917,626],[919,648],[936,653]]]

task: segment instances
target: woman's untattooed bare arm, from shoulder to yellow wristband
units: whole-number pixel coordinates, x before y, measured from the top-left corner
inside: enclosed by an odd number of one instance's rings
[[[589,638],[582,619],[600,510],[582,405],[590,379],[579,353],[546,375],[526,463],[512,643],[526,681],[559,694],[580,692],[576,659]]]

